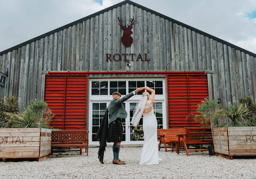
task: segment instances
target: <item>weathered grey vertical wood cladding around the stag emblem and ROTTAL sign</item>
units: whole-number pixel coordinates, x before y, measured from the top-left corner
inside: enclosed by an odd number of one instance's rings
[[[126,24],[134,16],[129,48],[121,44],[118,16]],[[131,61],[129,68],[124,61],[106,61],[107,53],[147,53],[150,61]],[[21,109],[33,98],[44,98],[42,71],[213,71],[210,98],[220,97],[223,106],[247,95],[256,98],[256,57],[130,4],[1,55],[0,71],[7,68],[0,98],[18,97]]]

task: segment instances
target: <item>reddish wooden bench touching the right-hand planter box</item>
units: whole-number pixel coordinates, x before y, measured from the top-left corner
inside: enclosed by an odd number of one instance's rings
[[[205,151],[207,148],[202,148],[203,144],[213,144],[212,140],[212,129],[211,128],[200,128],[191,127],[184,128],[185,135],[178,135],[178,154],[180,152],[180,142],[184,143],[185,151],[189,156],[188,151]],[[188,149],[188,145],[195,145],[195,148]],[[200,147],[198,147],[200,145]]]

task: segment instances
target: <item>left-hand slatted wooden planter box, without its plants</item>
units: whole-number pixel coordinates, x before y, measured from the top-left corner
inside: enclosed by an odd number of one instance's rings
[[[0,128],[0,159],[48,159],[51,153],[51,129]]]

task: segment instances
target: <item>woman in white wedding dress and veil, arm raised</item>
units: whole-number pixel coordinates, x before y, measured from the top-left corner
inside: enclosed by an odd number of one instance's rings
[[[141,90],[151,92],[151,97],[148,92],[142,93],[142,99],[135,108],[135,113],[131,119],[131,124],[137,128],[140,119],[143,115],[143,131],[144,145],[142,148],[141,161],[139,164],[158,164],[158,137],[157,137],[157,119],[153,111],[155,99],[155,91],[151,88],[142,87]]]

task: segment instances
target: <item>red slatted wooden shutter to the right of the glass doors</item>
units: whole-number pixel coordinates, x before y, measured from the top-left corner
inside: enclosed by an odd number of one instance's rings
[[[168,75],[169,128],[202,126],[187,118],[208,96],[207,75]]]

